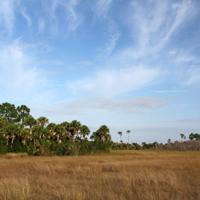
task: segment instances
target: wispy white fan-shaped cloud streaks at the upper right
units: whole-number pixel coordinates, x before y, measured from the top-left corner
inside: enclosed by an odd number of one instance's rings
[[[170,1],[149,1],[148,6],[134,1],[131,5],[132,26],[136,33],[134,37],[138,42],[136,48],[126,49],[124,54],[130,56],[131,50],[135,58],[162,50],[194,14],[194,5],[190,0],[176,4]]]

